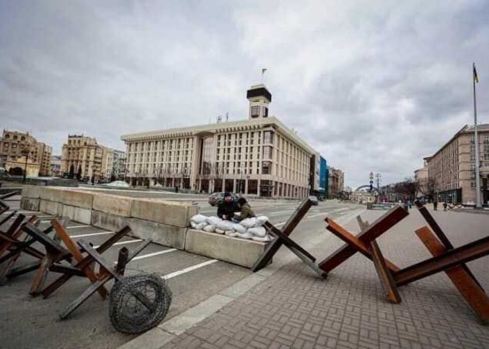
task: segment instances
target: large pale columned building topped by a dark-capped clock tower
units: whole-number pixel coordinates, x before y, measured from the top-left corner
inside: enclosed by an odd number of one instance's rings
[[[317,190],[319,154],[269,117],[272,94],[247,91],[248,119],[123,135],[132,185],[304,198]]]

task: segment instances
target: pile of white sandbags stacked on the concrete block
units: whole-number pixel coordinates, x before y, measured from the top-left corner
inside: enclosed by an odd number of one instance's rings
[[[205,232],[217,232],[230,237],[240,237],[241,239],[252,239],[258,242],[269,242],[272,237],[268,235],[263,224],[268,221],[268,217],[259,216],[245,218],[240,223],[225,221],[219,217],[207,217],[203,214],[196,214],[190,218],[190,225],[197,230]]]

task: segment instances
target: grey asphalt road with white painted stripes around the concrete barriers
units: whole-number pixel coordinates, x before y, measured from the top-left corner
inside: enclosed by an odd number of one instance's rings
[[[116,193],[115,191],[111,191]],[[141,192],[119,191],[121,195],[140,195]],[[214,215],[217,208],[210,207],[207,196],[184,194],[154,193],[153,197],[168,198],[178,201],[198,202],[200,213]],[[9,202],[13,209],[18,207],[17,198]],[[258,215],[268,216],[272,223],[282,226],[298,201],[287,200],[254,200],[252,207]],[[325,232],[323,219],[326,216],[340,218],[353,215],[362,210],[359,205],[340,202],[319,202],[312,207],[304,220],[293,233],[295,241],[309,244],[312,236],[323,235]],[[32,213],[26,213],[27,216]],[[43,216],[41,228],[49,225],[52,216]],[[76,241],[85,239],[98,246],[108,239],[113,232],[99,228],[68,223],[68,232]],[[5,226],[0,227],[5,228]],[[140,241],[125,237],[118,246],[113,246],[104,253],[110,262],[117,260],[117,252],[122,246],[135,249]],[[122,245],[122,246],[120,246]],[[286,253],[281,251],[282,253]],[[280,258],[280,255],[277,255]],[[29,257],[22,255],[19,265],[28,262]],[[224,288],[240,281],[251,274],[249,269],[231,265],[226,262],[212,260],[173,248],[151,244],[140,253],[138,260],[133,260],[126,274],[137,274],[141,271],[156,272],[168,277],[173,291],[173,302],[165,320],[182,313],[202,302]],[[116,332],[108,318],[108,300],[103,301],[97,294],[75,310],[66,320],[59,320],[58,313],[88,287],[89,282],[82,278],[73,278],[54,292],[48,299],[31,297],[29,287],[33,274],[25,274],[0,285],[0,333],[2,348],[116,348],[133,338],[131,335]],[[48,275],[48,284],[56,275]],[[108,285],[110,289],[110,285]]]

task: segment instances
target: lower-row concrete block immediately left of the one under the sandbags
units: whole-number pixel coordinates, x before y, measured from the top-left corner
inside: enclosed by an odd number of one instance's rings
[[[152,239],[156,244],[183,250],[187,228],[131,218],[132,235],[140,239]]]

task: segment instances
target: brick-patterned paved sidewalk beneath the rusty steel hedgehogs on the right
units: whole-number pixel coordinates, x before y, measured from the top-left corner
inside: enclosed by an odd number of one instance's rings
[[[366,211],[373,221],[382,211]],[[485,215],[438,211],[455,246],[489,234]],[[379,239],[400,267],[430,255],[414,230],[425,225],[416,209]],[[357,231],[355,221],[346,224]],[[319,260],[342,245],[329,232],[312,248]],[[489,258],[469,263],[489,290]],[[355,255],[322,281],[298,260],[176,336],[163,348],[489,348],[481,325],[444,273],[400,288],[401,304],[386,301],[372,262]]]

